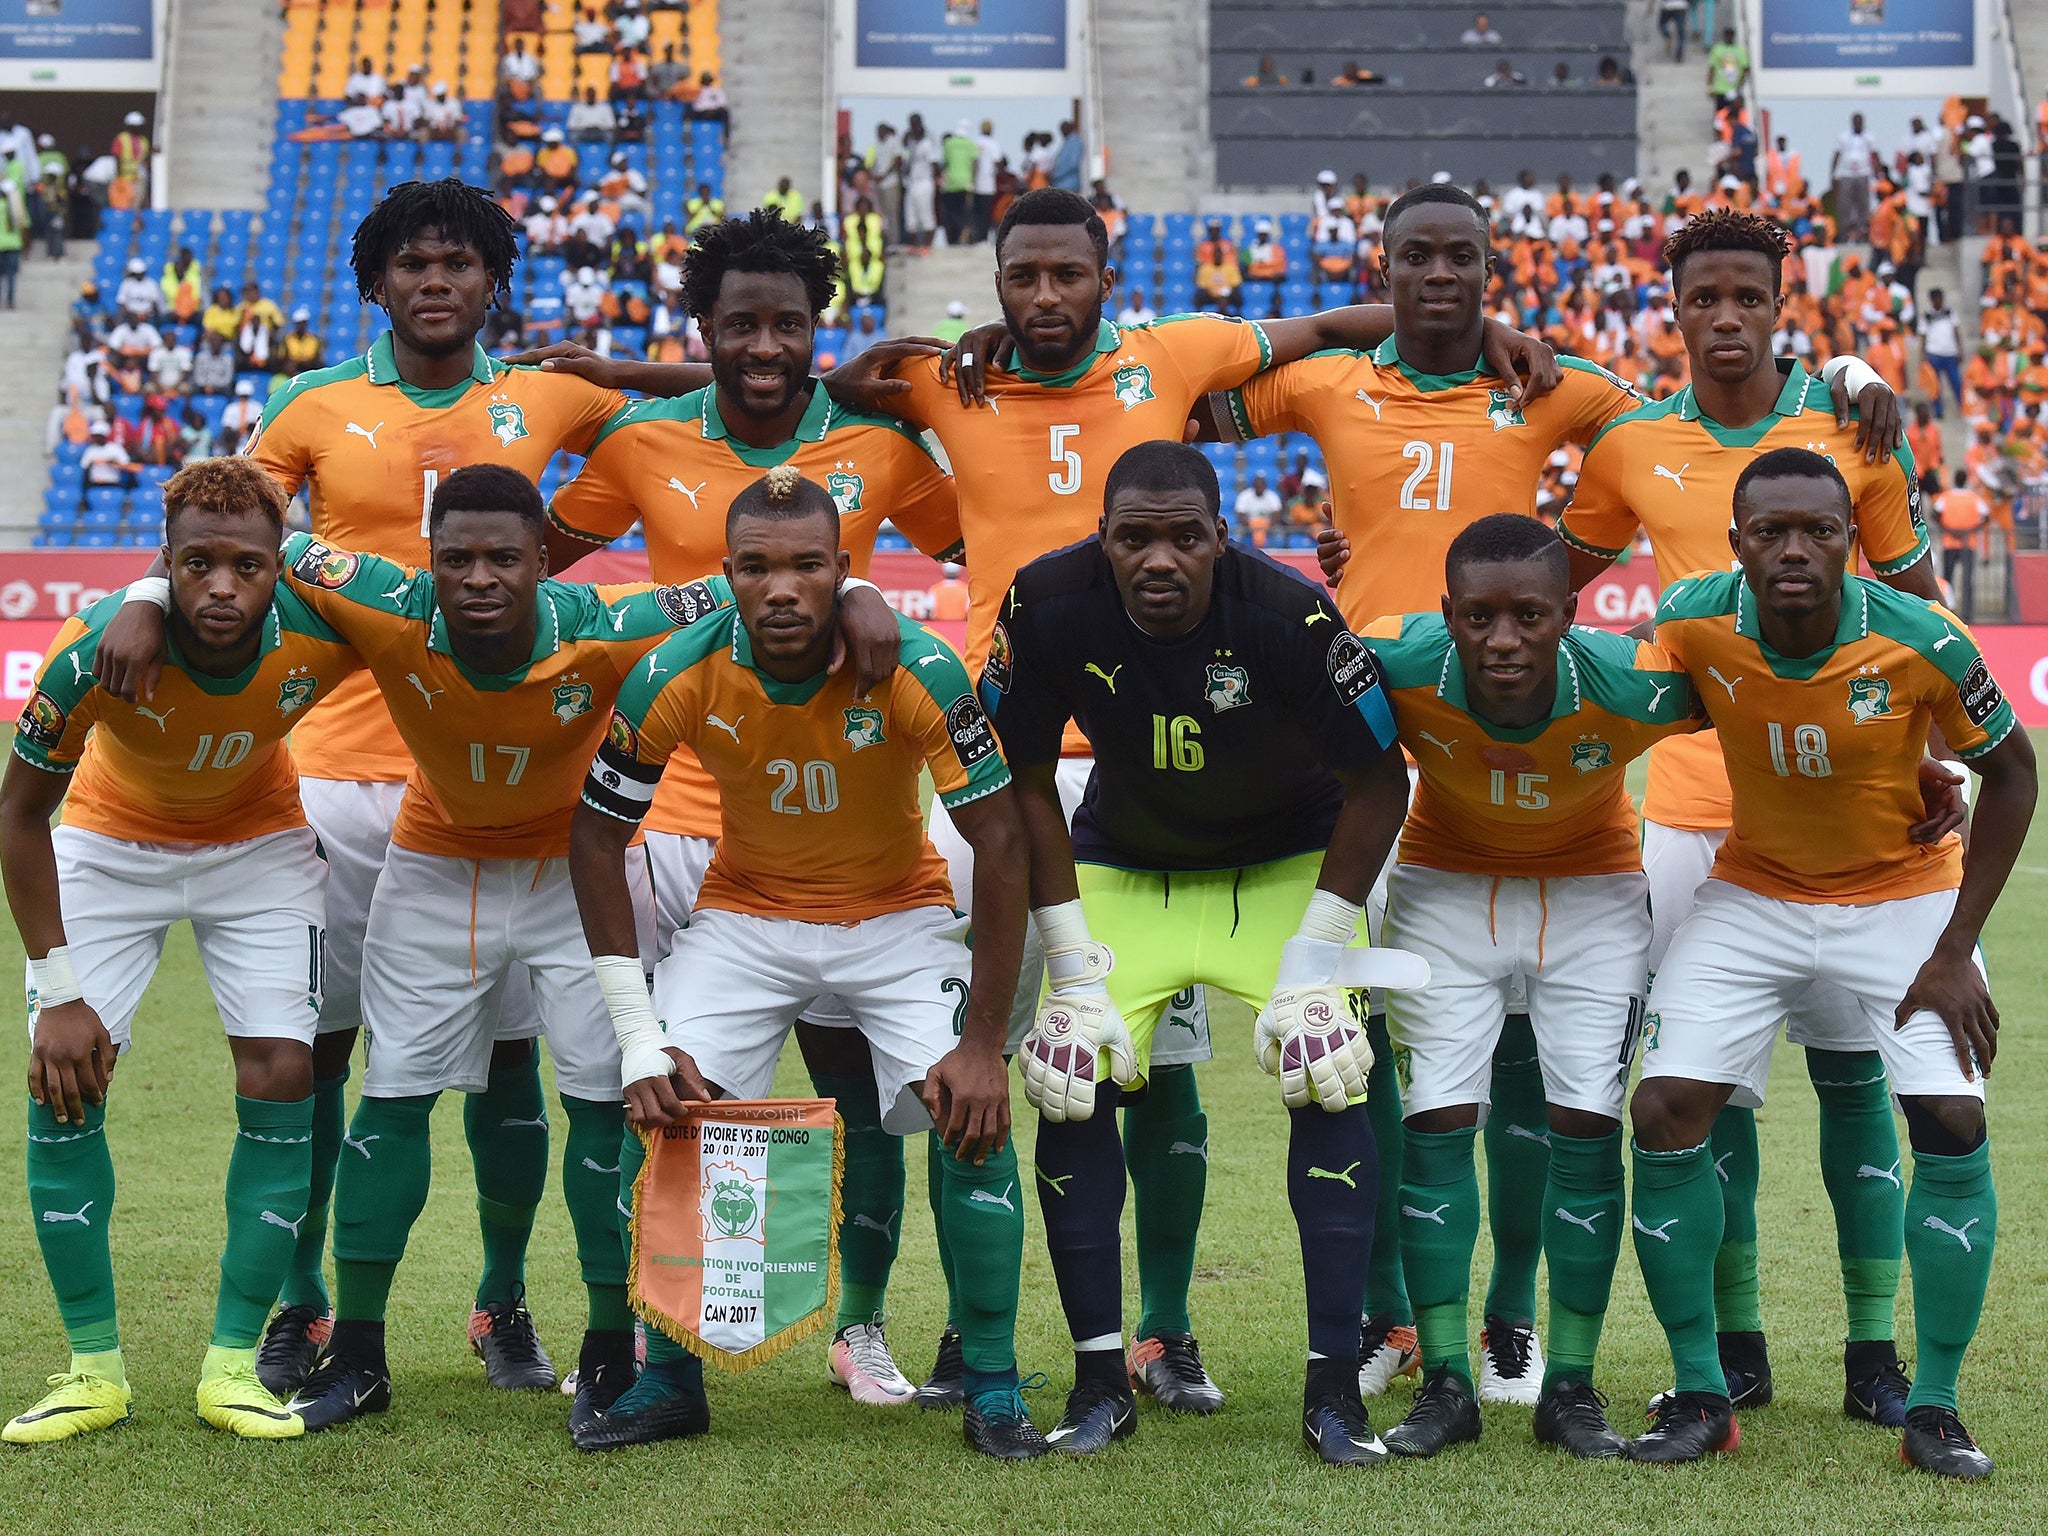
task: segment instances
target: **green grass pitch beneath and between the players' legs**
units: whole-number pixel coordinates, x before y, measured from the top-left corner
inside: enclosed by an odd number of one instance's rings
[[[1210,1114],[1208,1214],[1194,1325],[1229,1395],[1212,1419],[1149,1401],[1135,1440],[1106,1456],[999,1466],[961,1444],[958,1415],[852,1405],[825,1382],[825,1341],[745,1376],[713,1372],[711,1436],[610,1456],[569,1448],[559,1395],[483,1386],[463,1325],[477,1223],[461,1112],[434,1122],[436,1182],[391,1296],[389,1413],[283,1444],[236,1444],[193,1415],[221,1243],[221,1176],[233,1133],[227,1049],[190,938],[172,936],[135,1020],[106,1120],[119,1178],[113,1225],[135,1419],[45,1450],[0,1448],[0,1530],[10,1532],[2040,1532],[2048,1450],[2048,817],[2007,887],[1987,950],[2005,1016],[1991,1096],[2001,1231],[1991,1300],[1964,1368],[1964,1415],[1997,1458],[1982,1487],[1911,1473],[1896,1436],[1841,1417],[1841,1294],[1800,1053],[1780,1047],[1763,1143],[1763,1315],[1778,1403],[1743,1415],[1733,1456],[1690,1468],[1581,1464],[1536,1446],[1528,1409],[1485,1409],[1485,1440],[1438,1460],[1327,1470],[1300,1448],[1300,1251],[1286,1204],[1286,1116],[1251,1063],[1251,1020],[1217,1006],[1219,1057],[1202,1069]],[[0,924],[0,973],[20,973]],[[25,1053],[8,1057],[18,1073]],[[20,1094],[20,1077],[8,1092]],[[809,1092],[795,1049],[778,1092]],[[18,1413],[66,1364],[20,1186],[23,1114],[0,1114],[0,1411]],[[1030,1116],[1016,1094],[1022,1153]],[[557,1153],[563,1116],[555,1116]],[[1905,1133],[1901,1128],[1901,1143]],[[924,1208],[924,1141],[909,1143],[909,1210],[891,1294],[891,1341],[913,1378],[930,1366],[944,1288]],[[557,1157],[559,1163],[559,1157]],[[1487,1241],[1475,1266],[1475,1309]],[[1124,1255],[1126,1321],[1137,1280]],[[584,1325],[569,1221],[553,1188],[528,1288],[541,1335],[567,1370]],[[1911,1282],[1901,1343],[1913,1354]],[[1477,1339],[1479,1317],[1473,1317]],[[1059,1417],[1071,1356],[1036,1210],[1024,1247],[1024,1370],[1040,1427]],[[1624,1245],[1602,1350],[1612,1417],[1634,1432],[1667,1380],[1634,1253]],[[1382,1430],[1409,1384],[1372,1403]]]

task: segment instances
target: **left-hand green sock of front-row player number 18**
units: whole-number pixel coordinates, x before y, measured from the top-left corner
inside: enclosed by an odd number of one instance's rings
[[[1675,1153],[1632,1147],[1636,1165],[1636,1264],[1651,1311],[1671,1341],[1677,1391],[1729,1395],[1714,1337],[1714,1266],[1720,1251],[1720,1188],[1710,1143]]]

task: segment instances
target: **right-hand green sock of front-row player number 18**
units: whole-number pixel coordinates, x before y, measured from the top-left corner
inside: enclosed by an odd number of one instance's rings
[[[1907,1407],[1956,1407],[1962,1354],[1976,1337],[1999,1241],[1991,1143],[1962,1157],[1913,1153],[1907,1257],[1913,1264],[1913,1391]]]

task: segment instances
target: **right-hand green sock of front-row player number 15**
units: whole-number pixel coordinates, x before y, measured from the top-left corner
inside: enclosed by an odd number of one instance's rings
[[[1542,1196],[1542,1247],[1550,1262],[1546,1391],[1563,1380],[1593,1380],[1626,1219],[1622,1133],[1561,1137],[1552,1130],[1550,1182]]]

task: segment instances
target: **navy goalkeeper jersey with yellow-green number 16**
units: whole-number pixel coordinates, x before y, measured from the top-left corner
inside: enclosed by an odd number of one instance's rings
[[[981,674],[1012,766],[1096,750],[1073,856],[1143,870],[1264,864],[1329,846],[1333,770],[1395,741],[1372,653],[1307,580],[1227,549],[1208,612],[1157,641],[1124,612],[1087,539],[1018,571]]]

